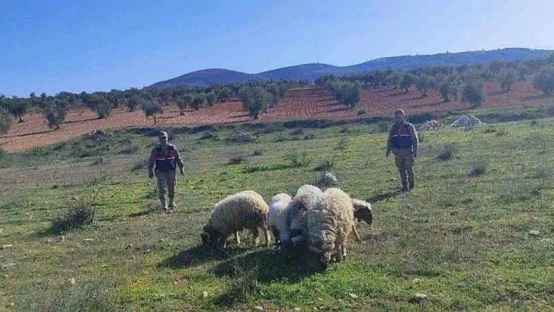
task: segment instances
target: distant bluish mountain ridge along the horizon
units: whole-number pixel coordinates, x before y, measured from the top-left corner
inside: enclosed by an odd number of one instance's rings
[[[516,60],[531,60],[546,58],[551,50],[528,48],[505,48],[497,50],[482,50],[458,53],[438,53],[430,55],[403,55],[398,57],[386,57],[373,59],[365,63],[350,66],[334,66],[321,63],[294,65],[257,74],[248,74],[241,71],[224,68],[211,68],[193,71],[168,80],[159,81],[150,87],[167,87],[177,85],[209,85],[229,84],[242,82],[248,79],[308,79],[314,80],[325,73],[343,75],[359,73],[361,71],[376,69],[401,69],[410,70],[418,67],[440,65],[476,65],[490,63],[498,60],[514,62]]]

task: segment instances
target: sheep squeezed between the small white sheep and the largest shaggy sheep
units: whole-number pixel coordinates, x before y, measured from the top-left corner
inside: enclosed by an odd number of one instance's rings
[[[306,238],[306,211],[315,207],[321,200],[323,192],[313,185],[302,185],[289,204],[289,233],[293,243]]]

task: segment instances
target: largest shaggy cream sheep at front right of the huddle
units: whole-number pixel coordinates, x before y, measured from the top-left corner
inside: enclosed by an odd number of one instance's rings
[[[346,259],[348,236],[357,233],[350,196],[339,188],[328,188],[306,214],[309,249],[321,265]]]

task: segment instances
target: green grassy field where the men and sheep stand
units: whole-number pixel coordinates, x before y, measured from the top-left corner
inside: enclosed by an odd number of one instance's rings
[[[522,120],[420,132],[417,187],[402,194],[383,120],[170,129],[186,174],[169,214],[144,166],[155,129],[4,153],[0,310],[554,310],[554,120],[528,120],[551,111],[476,111]],[[228,142],[235,132],[255,139]],[[373,206],[345,262],[316,273],[252,247],[248,232],[226,254],[198,247],[218,200],[251,189],[269,202],[314,182],[324,161]],[[94,222],[56,231],[79,204]]]

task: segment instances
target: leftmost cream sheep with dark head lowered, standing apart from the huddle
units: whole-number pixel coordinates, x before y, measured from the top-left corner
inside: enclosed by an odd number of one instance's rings
[[[220,200],[212,209],[212,216],[201,234],[204,246],[225,248],[225,242],[235,235],[240,244],[239,231],[247,228],[254,236],[254,245],[259,244],[260,231],[265,234],[266,245],[269,244],[267,227],[269,206],[257,192],[242,191]]]

